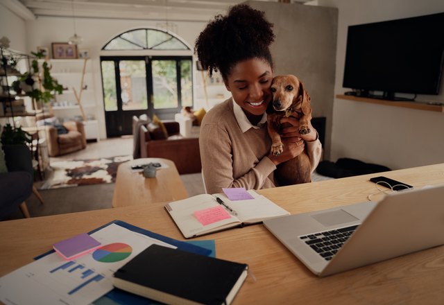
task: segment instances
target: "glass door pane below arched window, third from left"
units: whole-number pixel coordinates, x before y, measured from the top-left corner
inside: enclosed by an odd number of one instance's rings
[[[177,108],[176,60],[153,60],[153,104],[154,109]]]

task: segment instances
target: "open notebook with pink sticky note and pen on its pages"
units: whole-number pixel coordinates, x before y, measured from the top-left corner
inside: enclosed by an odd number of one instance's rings
[[[268,218],[290,215],[263,195],[247,191],[252,199],[230,200],[225,194],[202,194],[165,205],[185,238],[219,232],[232,227],[262,223]]]

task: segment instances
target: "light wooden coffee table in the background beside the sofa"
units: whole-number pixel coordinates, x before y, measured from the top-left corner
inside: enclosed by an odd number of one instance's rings
[[[142,172],[134,172],[131,169],[132,165],[150,162],[162,162],[168,167],[158,169],[153,178],[145,178]],[[176,165],[169,159],[134,159],[120,164],[117,168],[112,207],[171,202],[185,198],[188,198],[188,192],[180,179]]]

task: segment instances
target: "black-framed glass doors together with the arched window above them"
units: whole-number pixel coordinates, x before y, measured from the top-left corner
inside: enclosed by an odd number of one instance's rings
[[[192,51],[167,31],[138,28],[112,38],[101,71],[108,137],[131,134],[133,116],[173,119],[193,105]]]

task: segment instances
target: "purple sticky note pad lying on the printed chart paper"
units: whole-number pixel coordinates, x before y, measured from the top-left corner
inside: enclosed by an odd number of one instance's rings
[[[59,241],[53,245],[54,250],[64,259],[75,259],[76,257],[85,254],[89,251],[100,247],[101,243],[89,236],[87,233],[79,234],[77,236]]]

